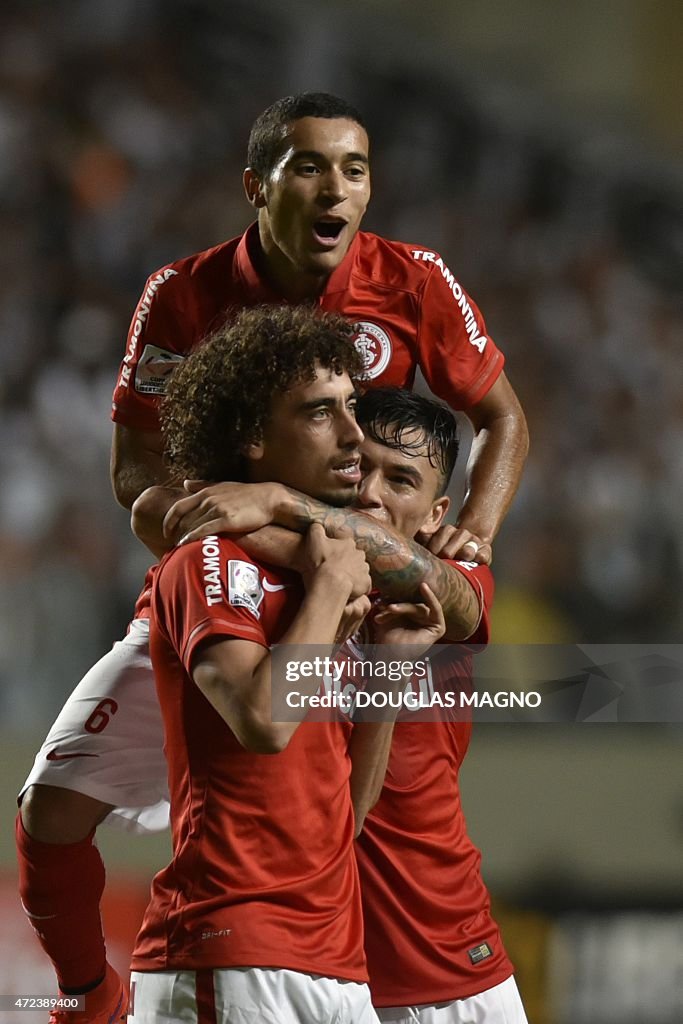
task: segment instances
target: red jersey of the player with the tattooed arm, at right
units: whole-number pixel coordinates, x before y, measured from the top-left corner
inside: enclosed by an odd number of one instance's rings
[[[490,570],[451,564],[479,590],[482,616],[469,643],[484,644]],[[471,657],[455,667],[460,685],[471,671]],[[446,676],[442,688],[453,689],[453,666]],[[394,728],[384,787],[356,842],[377,1007],[466,998],[512,974],[460,801],[458,773],[471,728],[467,721],[408,720]]]

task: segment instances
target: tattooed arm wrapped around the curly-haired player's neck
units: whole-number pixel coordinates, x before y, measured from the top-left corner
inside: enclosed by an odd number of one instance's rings
[[[447,639],[463,640],[476,628],[479,599],[465,577],[420,544],[405,540],[371,516],[352,509],[332,508],[313,498],[289,492],[275,521],[298,531],[318,522],[332,537],[350,534],[356,546],[365,551],[373,583],[385,597],[395,601],[419,600],[420,584],[426,583],[443,608]]]

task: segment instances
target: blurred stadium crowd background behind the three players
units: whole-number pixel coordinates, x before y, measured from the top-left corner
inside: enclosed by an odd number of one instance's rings
[[[680,639],[682,30],[674,0],[3,4],[0,993],[52,987],[15,896],[15,790],[146,564],[108,480],[129,317],[151,270],[249,222],[246,137],[273,98],[367,114],[367,226],[441,252],[507,354],[532,445],[497,639]],[[465,806],[532,1024],[683,1018],[681,737],[477,731]],[[100,845],[125,964],[167,847]]]

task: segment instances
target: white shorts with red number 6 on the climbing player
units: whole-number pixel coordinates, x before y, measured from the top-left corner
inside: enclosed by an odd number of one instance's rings
[[[104,819],[128,831],[169,825],[164,727],[150,660],[150,624],[130,632],[90,669],[36,756],[30,785],[56,785],[111,804]]]

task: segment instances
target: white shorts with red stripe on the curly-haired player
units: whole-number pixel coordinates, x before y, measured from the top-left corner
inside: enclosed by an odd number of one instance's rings
[[[128,1024],[379,1024],[354,981],[268,968],[133,971]]]

